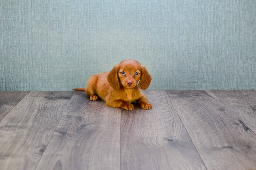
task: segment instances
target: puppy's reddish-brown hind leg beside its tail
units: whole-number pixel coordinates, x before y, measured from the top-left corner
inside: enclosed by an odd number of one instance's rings
[[[96,85],[97,85],[98,77],[97,75],[92,75],[86,85],[86,95],[90,97],[90,100],[97,101],[99,97],[96,95]]]

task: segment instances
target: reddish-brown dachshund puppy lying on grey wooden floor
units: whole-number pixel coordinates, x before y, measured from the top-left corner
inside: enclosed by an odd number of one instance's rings
[[[131,103],[136,100],[142,109],[152,109],[147,97],[140,90],[146,90],[150,82],[151,75],[146,67],[129,59],[115,65],[110,72],[92,75],[85,89],[73,90],[86,91],[90,100],[97,101],[101,98],[106,101],[107,106],[114,108],[133,110]]]

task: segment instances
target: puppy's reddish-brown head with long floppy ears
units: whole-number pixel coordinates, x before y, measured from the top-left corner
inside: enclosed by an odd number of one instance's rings
[[[141,80],[139,81],[139,79]],[[120,85],[132,89],[138,81],[139,88],[146,90],[151,82],[151,75],[145,66],[132,59],[121,61],[108,74],[108,83],[115,90],[118,90]]]

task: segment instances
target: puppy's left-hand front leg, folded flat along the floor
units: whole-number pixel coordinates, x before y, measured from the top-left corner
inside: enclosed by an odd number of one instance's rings
[[[133,110],[134,106],[131,103],[125,102],[124,100],[116,100],[111,97],[106,98],[106,105],[113,108],[121,108],[125,110]]]

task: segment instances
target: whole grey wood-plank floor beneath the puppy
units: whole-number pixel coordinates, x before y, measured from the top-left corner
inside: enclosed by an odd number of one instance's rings
[[[256,169],[256,91],[144,94],[153,109],[0,92],[0,169]]]

